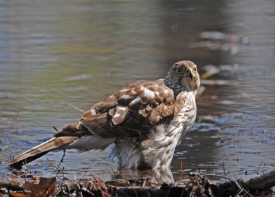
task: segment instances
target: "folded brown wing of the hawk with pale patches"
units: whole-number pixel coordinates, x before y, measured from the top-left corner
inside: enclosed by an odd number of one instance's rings
[[[174,98],[173,90],[163,79],[135,81],[91,107],[78,127],[84,126],[86,132],[104,138],[146,133],[153,125],[167,123],[179,112],[185,101],[183,95]]]

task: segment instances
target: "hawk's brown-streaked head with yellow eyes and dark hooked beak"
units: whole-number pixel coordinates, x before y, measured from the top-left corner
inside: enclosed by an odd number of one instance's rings
[[[192,61],[179,61],[169,70],[166,79],[170,81],[170,86],[182,86],[183,90],[195,91],[199,89],[199,73],[197,65]],[[172,87],[173,88],[173,87]]]

